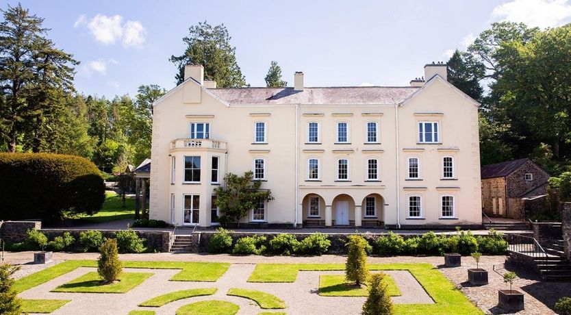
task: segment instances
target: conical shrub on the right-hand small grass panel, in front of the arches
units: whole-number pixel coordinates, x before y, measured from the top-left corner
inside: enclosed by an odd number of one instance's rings
[[[346,244],[348,247],[347,263],[345,264],[345,279],[360,286],[368,277],[367,253],[365,247],[367,240],[359,235],[351,235]]]

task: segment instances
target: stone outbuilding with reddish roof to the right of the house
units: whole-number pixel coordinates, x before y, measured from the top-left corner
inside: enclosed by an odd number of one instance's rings
[[[482,166],[482,211],[525,220],[544,210],[550,175],[529,158]]]

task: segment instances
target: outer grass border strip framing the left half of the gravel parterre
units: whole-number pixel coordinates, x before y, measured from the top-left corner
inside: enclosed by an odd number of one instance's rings
[[[230,264],[216,262],[123,262],[123,266],[125,268],[181,269],[181,272],[174,275],[170,280],[214,282],[224,275]],[[24,292],[51,279],[70,273],[79,267],[97,268],[97,261],[67,260],[16,280],[14,290],[18,293]]]

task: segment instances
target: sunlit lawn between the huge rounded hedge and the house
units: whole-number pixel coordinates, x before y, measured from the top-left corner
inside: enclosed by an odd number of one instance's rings
[[[125,220],[135,218],[135,199],[127,197],[125,207],[123,199],[113,191],[105,191],[105,201],[101,210],[92,216],[80,216],[79,220],[92,223],[109,222],[114,220]]]

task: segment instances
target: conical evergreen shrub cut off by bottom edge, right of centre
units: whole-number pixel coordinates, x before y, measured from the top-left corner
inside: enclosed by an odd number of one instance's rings
[[[387,284],[383,281],[384,277],[383,273],[375,273],[370,277],[369,296],[363,305],[362,315],[394,314]]]

